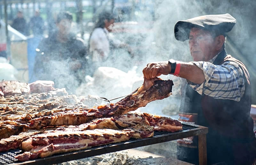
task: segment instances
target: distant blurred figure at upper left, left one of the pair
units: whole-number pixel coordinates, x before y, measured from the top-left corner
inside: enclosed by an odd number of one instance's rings
[[[21,11],[17,12],[17,17],[12,21],[12,27],[24,35],[28,35],[26,20],[23,18]]]

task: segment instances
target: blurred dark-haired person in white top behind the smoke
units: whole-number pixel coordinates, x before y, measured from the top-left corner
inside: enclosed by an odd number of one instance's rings
[[[109,32],[112,31],[115,17],[108,11],[103,11],[95,23],[94,29],[89,38],[89,51],[92,54],[92,62],[96,66],[105,61],[111,54],[111,49],[125,48],[133,56],[130,46],[120,40],[111,40]]]

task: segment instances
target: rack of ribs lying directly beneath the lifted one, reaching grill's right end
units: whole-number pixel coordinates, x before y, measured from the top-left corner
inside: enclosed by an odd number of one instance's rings
[[[57,130],[84,131],[105,128],[121,130],[136,124],[153,126],[154,131],[174,132],[182,130],[182,125],[178,120],[174,120],[170,117],[139,112],[99,118],[92,120],[90,123],[85,123],[78,126],[71,125],[66,128],[58,128]]]

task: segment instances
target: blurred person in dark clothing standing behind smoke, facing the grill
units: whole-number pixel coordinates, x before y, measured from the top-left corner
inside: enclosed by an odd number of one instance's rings
[[[52,80],[54,87],[65,87],[75,94],[84,80],[87,49],[84,40],[71,33],[72,19],[69,12],[58,14],[57,31],[43,39],[36,49],[34,76],[37,80]]]

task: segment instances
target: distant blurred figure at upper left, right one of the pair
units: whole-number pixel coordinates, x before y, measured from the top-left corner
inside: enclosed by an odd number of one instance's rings
[[[40,17],[40,12],[35,11],[35,16],[33,16],[29,21],[29,28],[33,31],[34,36],[44,34],[44,20]]]

